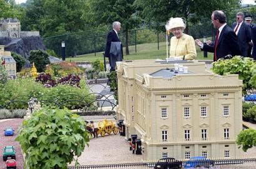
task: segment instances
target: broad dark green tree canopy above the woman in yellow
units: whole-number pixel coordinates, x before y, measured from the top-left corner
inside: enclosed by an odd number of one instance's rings
[[[135,0],[136,6],[142,11],[140,14],[145,21],[155,27],[159,27],[160,23],[164,24],[170,17],[184,17],[186,21],[199,22],[203,17],[210,20],[212,11],[216,9],[229,9],[238,6],[238,0]],[[188,27],[188,26],[187,26]],[[162,29],[165,29],[162,27]],[[185,31],[188,31],[186,29]]]

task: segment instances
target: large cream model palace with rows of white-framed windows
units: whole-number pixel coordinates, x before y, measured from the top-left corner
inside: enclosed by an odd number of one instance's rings
[[[183,65],[187,72],[176,71]],[[180,66],[181,70],[181,66]],[[242,80],[205,70],[205,63],[180,60],[117,62],[117,120],[126,138],[137,134],[144,160],[239,158]]]

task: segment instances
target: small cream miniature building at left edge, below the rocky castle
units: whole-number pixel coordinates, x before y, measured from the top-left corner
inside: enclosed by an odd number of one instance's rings
[[[0,60],[4,69],[10,77],[16,77],[16,61],[12,58],[11,52],[4,51],[4,46],[0,45]]]

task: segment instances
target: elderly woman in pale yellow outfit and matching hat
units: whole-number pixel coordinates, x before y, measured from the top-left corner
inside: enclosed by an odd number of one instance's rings
[[[170,39],[170,57],[175,60],[194,60],[197,56],[194,38],[184,34],[185,27],[180,17],[170,18],[166,25],[167,30],[174,34]]]

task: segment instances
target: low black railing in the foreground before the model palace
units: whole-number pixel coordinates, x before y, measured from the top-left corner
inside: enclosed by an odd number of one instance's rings
[[[100,160],[100,159],[97,159]],[[69,166],[69,169],[92,169],[92,168],[180,168],[179,162],[134,162],[134,163],[118,163],[106,165],[83,165],[83,166]],[[174,165],[177,165],[175,167]],[[189,167],[190,166],[190,167]],[[229,160],[197,160],[197,161],[182,161],[182,168],[229,168],[229,169],[253,169],[256,168],[256,158],[248,159],[229,159]]]

